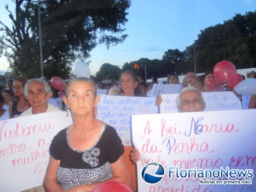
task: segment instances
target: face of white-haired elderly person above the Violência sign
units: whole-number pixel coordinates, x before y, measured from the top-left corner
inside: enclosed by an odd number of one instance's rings
[[[43,107],[47,105],[51,97],[51,93],[46,93],[44,84],[39,81],[33,81],[27,87],[27,99],[32,107]]]

